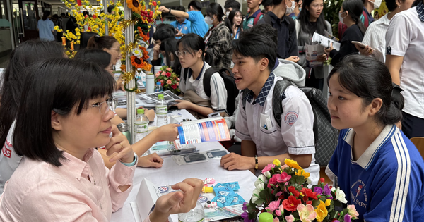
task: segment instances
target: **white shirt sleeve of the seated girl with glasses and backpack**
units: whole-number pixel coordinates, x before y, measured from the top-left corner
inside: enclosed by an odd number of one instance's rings
[[[211,104],[215,112],[221,113],[227,109],[227,89],[219,73],[213,73],[211,76]]]

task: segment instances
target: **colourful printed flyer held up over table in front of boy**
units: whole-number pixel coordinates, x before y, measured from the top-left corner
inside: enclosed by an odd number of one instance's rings
[[[187,121],[181,125],[178,127],[181,144],[231,140],[227,123],[222,117]]]

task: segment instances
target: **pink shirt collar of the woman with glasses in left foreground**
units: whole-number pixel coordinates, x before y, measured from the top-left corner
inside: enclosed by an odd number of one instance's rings
[[[66,171],[71,173],[71,175],[78,180],[81,180],[81,177],[90,175],[90,166],[87,162],[93,156],[93,152],[94,148],[88,149],[86,154],[83,156],[83,160],[81,160],[64,151],[62,154],[65,159],[60,161],[62,164],[61,167],[66,168]]]

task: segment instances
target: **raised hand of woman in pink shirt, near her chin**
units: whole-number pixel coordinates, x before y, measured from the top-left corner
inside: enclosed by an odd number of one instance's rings
[[[118,159],[123,163],[131,163],[134,161],[134,151],[131,144],[126,140],[126,136],[123,135],[122,132],[119,132],[116,125],[112,125],[112,138],[110,138],[109,143],[106,144],[105,149],[107,150],[107,156],[117,153],[116,156],[109,159],[110,162],[117,161]]]

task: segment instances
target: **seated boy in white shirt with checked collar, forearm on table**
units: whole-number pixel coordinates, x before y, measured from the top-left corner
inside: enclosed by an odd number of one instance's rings
[[[268,24],[264,24],[268,25]],[[243,32],[242,37],[232,42],[235,63],[232,72],[239,95],[239,110],[235,122],[235,135],[242,140],[242,155],[230,153],[222,157],[221,166],[232,170],[261,170],[273,159],[283,162],[293,159],[310,173],[312,184],[319,180],[319,166],[314,160],[314,114],[304,92],[289,86],[281,97],[283,114],[281,127],[273,115],[273,91],[281,76],[271,70],[276,66],[276,41],[269,35],[258,34],[257,27]],[[302,67],[285,63],[285,72],[296,72]],[[277,69],[274,70],[276,72]],[[287,74],[288,75],[288,74]],[[302,82],[302,81],[300,81]],[[245,93],[245,90],[247,90]],[[243,107],[244,105],[245,107]],[[256,173],[259,173],[257,171]]]

